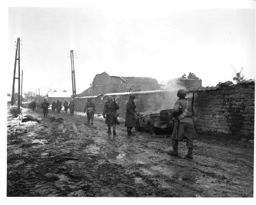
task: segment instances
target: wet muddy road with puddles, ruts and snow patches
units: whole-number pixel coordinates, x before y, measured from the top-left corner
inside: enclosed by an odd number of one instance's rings
[[[194,159],[170,156],[165,133],[108,136],[102,118],[93,125],[71,116],[23,109],[38,122],[8,116],[7,196],[253,197],[253,143],[198,135]],[[53,121],[50,117],[61,117]]]

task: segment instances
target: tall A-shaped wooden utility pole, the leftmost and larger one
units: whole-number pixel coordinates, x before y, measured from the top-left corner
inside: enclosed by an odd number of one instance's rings
[[[14,73],[13,73],[13,81],[12,81],[12,102],[11,105],[14,105],[14,90],[15,90],[15,80],[18,79],[19,80],[19,90],[18,90],[18,107],[20,110],[21,107],[21,81],[20,81],[20,77],[21,77],[21,72],[20,72],[20,68],[21,68],[21,58],[20,58],[20,38],[17,39],[17,43],[16,43],[16,52],[15,52],[15,61],[14,61]],[[17,58],[18,55],[18,58]],[[19,65],[19,77],[16,77],[16,62],[18,61],[18,65]]]

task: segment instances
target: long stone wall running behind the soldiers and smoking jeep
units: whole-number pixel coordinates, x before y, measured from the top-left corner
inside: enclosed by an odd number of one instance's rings
[[[172,109],[176,91],[135,94],[137,112]],[[93,98],[96,113],[102,113],[107,96]],[[116,95],[119,115],[125,118],[129,95]],[[83,111],[86,98],[75,98],[75,111]],[[254,135],[255,83],[219,86],[194,92],[194,124],[197,131]]]

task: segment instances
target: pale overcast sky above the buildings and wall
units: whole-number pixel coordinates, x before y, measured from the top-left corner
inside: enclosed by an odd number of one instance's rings
[[[232,81],[233,65],[255,79],[253,9],[9,8],[8,16],[8,60],[14,65],[20,37],[24,92],[71,93],[71,49],[77,94],[104,71],[159,83],[194,72],[211,86]]]

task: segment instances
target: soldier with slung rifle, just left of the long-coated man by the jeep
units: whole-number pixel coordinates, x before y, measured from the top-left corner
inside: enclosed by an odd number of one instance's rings
[[[108,125],[108,134],[111,134],[111,126],[113,126],[113,135],[115,133],[115,125],[116,125],[116,114],[119,106],[117,102],[113,101],[112,96],[108,96],[108,101],[105,102],[104,110],[103,110],[103,118],[106,118],[105,124]]]

